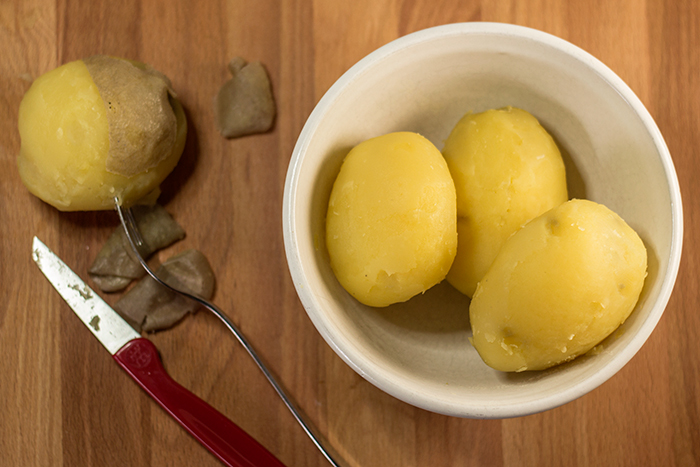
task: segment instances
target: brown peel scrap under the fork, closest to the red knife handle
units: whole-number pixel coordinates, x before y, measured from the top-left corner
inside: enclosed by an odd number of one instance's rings
[[[206,257],[197,250],[173,256],[158,268],[156,274],[164,282],[204,299],[208,300],[214,294],[214,271]],[[114,309],[137,332],[154,332],[173,326],[199,306],[146,276],[115,303]]]

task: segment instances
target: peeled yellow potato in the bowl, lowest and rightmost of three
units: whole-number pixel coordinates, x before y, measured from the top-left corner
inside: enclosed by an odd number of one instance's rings
[[[617,214],[568,201],[503,244],[469,308],[474,347],[502,371],[571,360],[627,319],[646,267],[644,244]]]

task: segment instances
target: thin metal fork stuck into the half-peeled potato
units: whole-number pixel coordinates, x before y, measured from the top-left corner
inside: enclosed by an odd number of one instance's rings
[[[149,276],[153,278],[156,282],[161,284],[164,287],[167,287],[168,289],[172,290],[173,292],[176,292],[180,295],[183,295],[191,300],[194,300],[195,302],[199,303],[202,305],[204,308],[207,310],[211,311],[214,316],[219,318],[224,325],[233,333],[234,336],[236,336],[236,339],[240,344],[243,346],[243,348],[248,352],[248,355],[251,356],[251,358],[255,361],[255,364],[260,368],[260,371],[263,372],[265,375],[265,378],[270,382],[272,387],[275,389],[275,392],[277,392],[277,395],[280,396],[282,401],[284,402],[284,405],[287,406],[289,411],[292,413],[296,421],[301,425],[301,428],[304,430],[304,432],[309,436],[311,441],[314,443],[314,445],[318,448],[319,451],[321,451],[321,454],[323,454],[323,457],[326,458],[326,460],[334,467],[341,467],[341,465],[346,465],[338,463],[331,455],[330,450],[331,448],[327,446],[328,441],[324,440],[321,435],[318,435],[314,432],[314,430],[311,429],[311,426],[304,420],[304,417],[302,414],[297,410],[296,406],[294,403],[292,403],[292,400],[287,396],[285,391],[282,389],[282,386],[277,382],[277,380],[274,378],[270,370],[267,369],[267,366],[263,363],[263,361],[260,359],[258,354],[255,352],[255,349],[253,348],[252,345],[246,340],[245,336],[243,333],[226,317],[226,315],[219,309],[217,308],[213,303],[209,302],[208,300],[205,300],[202,297],[199,297],[197,295],[191,294],[187,291],[180,290],[176,287],[171,286],[167,282],[163,281],[160,279],[155,272],[148,266],[146,261],[143,259],[143,256],[141,254],[140,248],[145,245],[145,242],[143,241],[143,238],[141,237],[141,233],[139,232],[139,229],[136,225],[136,220],[134,219],[134,214],[131,211],[131,208],[125,208],[122,207],[120,201],[118,198],[114,198],[114,204],[117,208],[117,213],[119,214],[119,220],[121,221],[122,227],[124,227],[124,233],[126,234],[126,238],[129,241],[129,244],[131,245],[132,250],[134,251],[134,254],[136,255],[136,259],[138,259],[139,263],[141,263],[141,266],[143,269],[148,273]],[[337,453],[334,453],[334,456],[338,457]]]

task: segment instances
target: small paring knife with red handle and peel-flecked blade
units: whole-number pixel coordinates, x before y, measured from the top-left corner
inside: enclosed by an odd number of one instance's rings
[[[284,467],[239,426],[168,376],[153,343],[141,337],[37,237],[32,258],[119,366],[219,460],[231,467]]]

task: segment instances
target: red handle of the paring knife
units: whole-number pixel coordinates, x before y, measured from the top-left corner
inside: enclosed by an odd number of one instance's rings
[[[270,451],[211,405],[180,386],[163,368],[151,341],[129,341],[114,359],[197,441],[231,467],[284,467]]]

